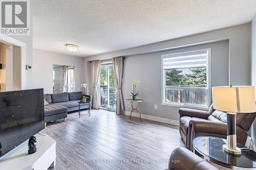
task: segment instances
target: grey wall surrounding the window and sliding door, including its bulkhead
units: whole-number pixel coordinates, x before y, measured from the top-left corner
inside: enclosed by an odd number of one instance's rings
[[[228,80],[232,85],[249,85],[250,29],[251,26],[248,23],[127,50],[86,57],[84,58],[84,70],[85,80],[89,84],[87,93],[92,94],[89,61],[125,56],[123,73],[124,98],[130,97],[131,84],[134,80],[139,79],[141,80],[138,87],[140,97],[146,100],[141,104],[143,113],[178,120],[178,107],[161,105],[161,55],[211,47],[211,85],[228,85]],[[132,72],[132,74],[129,72]],[[157,110],[154,109],[155,104],[158,105]],[[130,110],[127,106],[125,104],[125,110]]]

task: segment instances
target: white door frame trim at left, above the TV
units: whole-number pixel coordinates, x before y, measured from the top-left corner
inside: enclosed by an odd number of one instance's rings
[[[20,87],[21,90],[25,90],[26,89],[26,58],[27,58],[27,48],[26,48],[26,43],[16,40],[14,38],[11,38],[7,35],[4,34],[0,34],[0,41],[6,44],[12,44],[15,46],[19,46],[20,47],[20,57],[21,57],[21,67],[20,67]]]

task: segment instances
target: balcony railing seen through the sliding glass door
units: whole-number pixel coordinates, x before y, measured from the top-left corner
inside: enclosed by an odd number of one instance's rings
[[[108,98],[109,94],[109,98]],[[109,87],[109,93],[108,93],[108,87],[100,87],[100,106],[102,107],[109,107],[109,108],[115,108],[116,105],[116,88],[115,87]]]

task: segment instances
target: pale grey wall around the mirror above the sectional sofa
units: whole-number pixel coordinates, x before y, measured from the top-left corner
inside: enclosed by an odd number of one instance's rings
[[[44,88],[44,93],[53,93],[53,65],[75,67],[75,91],[80,91],[84,82],[83,58],[33,49],[33,88]]]

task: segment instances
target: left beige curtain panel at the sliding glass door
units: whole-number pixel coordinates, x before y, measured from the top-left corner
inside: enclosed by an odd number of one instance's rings
[[[93,108],[99,109],[99,73],[101,61],[91,61],[92,81],[93,81]]]

